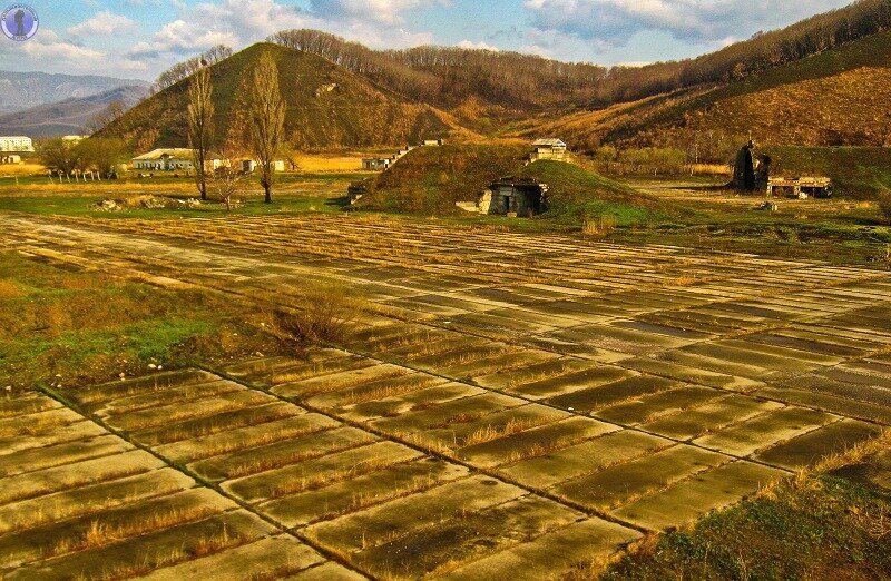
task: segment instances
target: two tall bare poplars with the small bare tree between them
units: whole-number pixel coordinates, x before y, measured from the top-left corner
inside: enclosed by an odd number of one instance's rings
[[[195,184],[202,199],[207,199],[208,184],[217,196],[232,206],[232,196],[244,175],[237,159],[249,154],[256,159],[264,200],[272,203],[275,184],[275,160],[283,149],[285,102],[278,86],[278,67],[270,52],[264,52],[251,78],[248,90],[242,91],[247,118],[233,122],[219,150],[222,165],[208,171],[214,142],[214,101],[210,70],[202,67],[192,75],[188,87],[188,140],[195,166]]]

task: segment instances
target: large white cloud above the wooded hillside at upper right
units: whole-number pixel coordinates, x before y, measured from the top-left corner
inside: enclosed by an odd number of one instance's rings
[[[527,0],[539,30],[604,45],[624,45],[642,30],[662,30],[694,42],[745,38],[849,0]]]

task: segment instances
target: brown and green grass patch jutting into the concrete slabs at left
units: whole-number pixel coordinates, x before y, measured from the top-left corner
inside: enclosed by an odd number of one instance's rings
[[[276,344],[258,313],[223,295],[124,282],[0,253],[0,384],[69,387]]]

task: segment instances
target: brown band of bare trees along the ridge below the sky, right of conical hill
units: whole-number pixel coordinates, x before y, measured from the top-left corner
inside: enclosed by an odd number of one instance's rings
[[[478,97],[505,107],[536,109],[606,106],[740,80],[889,28],[891,0],[859,0],[699,58],[611,68],[454,47],[378,51],[317,30],[285,30],[268,40],[324,57],[418,100],[449,106]]]

